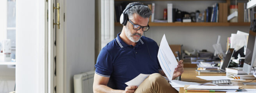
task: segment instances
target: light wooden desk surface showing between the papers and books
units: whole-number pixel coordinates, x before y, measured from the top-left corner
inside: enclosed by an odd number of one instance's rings
[[[184,68],[184,72],[181,75],[181,81],[206,81],[196,76],[226,76],[226,73],[198,73],[195,70],[196,68]],[[246,79],[243,82],[249,82],[249,81],[252,81],[252,79]],[[245,88],[256,89],[255,85],[244,85],[242,84],[242,82],[237,82],[237,81],[231,81],[231,82],[233,83],[233,86],[242,86],[244,89]],[[256,82],[256,80],[252,82]],[[199,82],[199,83],[206,83],[206,82]],[[180,88],[179,93],[210,93],[210,92],[186,92],[184,88]],[[215,93],[226,93],[226,92],[215,92]]]

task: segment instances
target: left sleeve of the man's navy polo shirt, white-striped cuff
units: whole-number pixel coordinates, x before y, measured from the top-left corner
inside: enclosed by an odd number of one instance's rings
[[[112,74],[113,65],[112,65],[111,56],[105,48],[103,48],[100,51],[95,68],[96,68],[95,73],[100,76],[110,77],[110,75]]]

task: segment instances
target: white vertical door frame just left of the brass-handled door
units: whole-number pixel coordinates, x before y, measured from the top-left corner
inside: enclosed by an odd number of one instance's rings
[[[38,1],[38,93],[48,90],[48,22],[47,2]]]

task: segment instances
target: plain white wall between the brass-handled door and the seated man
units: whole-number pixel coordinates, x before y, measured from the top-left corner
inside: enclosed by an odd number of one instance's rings
[[[95,1],[66,0],[66,84],[74,92],[73,76],[94,69]]]

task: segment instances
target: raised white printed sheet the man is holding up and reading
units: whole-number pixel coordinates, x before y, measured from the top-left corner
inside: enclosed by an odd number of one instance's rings
[[[165,34],[161,40],[157,58],[165,75],[168,77],[169,81],[172,81],[173,72],[178,62],[168,45]]]

